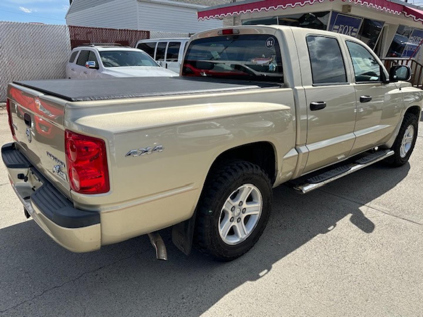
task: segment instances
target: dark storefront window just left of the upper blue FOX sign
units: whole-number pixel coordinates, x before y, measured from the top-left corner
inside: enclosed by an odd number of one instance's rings
[[[329,23],[329,11],[278,16],[278,21],[279,25],[326,30]]]

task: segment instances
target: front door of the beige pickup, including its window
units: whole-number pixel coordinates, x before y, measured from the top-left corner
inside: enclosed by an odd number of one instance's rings
[[[353,155],[389,139],[400,117],[402,94],[395,83],[383,82],[384,68],[369,49],[351,40],[345,45],[357,101]]]

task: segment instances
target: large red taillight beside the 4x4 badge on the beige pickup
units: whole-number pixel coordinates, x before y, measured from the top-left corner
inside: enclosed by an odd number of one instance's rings
[[[65,151],[73,191],[102,194],[110,190],[106,144],[102,139],[66,130]]]

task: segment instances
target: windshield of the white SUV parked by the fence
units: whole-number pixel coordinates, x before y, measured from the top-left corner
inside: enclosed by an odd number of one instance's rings
[[[146,53],[139,51],[102,51],[100,58],[104,67],[119,66],[157,66],[157,63]]]

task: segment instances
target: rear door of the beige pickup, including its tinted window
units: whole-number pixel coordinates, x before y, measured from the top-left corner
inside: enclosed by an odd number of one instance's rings
[[[340,38],[308,34],[298,40],[303,42],[297,42],[298,47],[308,52],[307,59],[300,57],[308,122],[305,173],[349,155],[355,140],[356,100]]]

